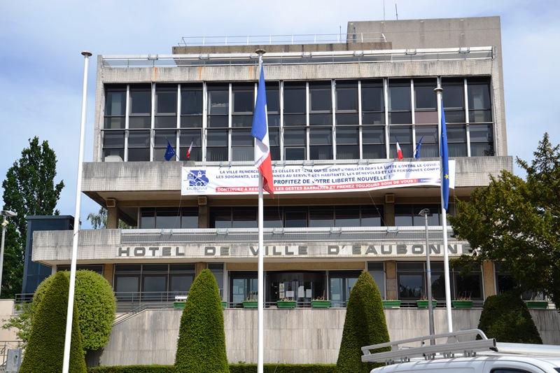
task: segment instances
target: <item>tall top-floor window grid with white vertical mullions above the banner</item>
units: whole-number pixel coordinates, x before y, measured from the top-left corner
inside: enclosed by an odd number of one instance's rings
[[[489,77],[267,82],[272,160],[358,160],[439,155],[438,80],[449,156],[493,155]],[[256,83],[106,85],[103,157],[253,160]]]

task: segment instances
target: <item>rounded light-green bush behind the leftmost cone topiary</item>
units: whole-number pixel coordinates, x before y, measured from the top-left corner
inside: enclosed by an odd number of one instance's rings
[[[70,272],[62,272],[70,279]],[[27,303],[21,314],[5,321],[3,329],[18,328],[16,335],[22,342],[29,342],[31,328],[38,305],[45,295],[55,275],[48,276],[39,284],[33,300]],[[100,274],[80,269],[76,271],[76,307],[80,318],[80,332],[83,349],[94,351],[109,342],[113,321],[115,321],[116,298],[109,282]]]

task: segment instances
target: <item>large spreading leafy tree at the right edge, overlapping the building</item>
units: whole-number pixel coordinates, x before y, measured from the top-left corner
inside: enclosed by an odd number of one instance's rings
[[[560,151],[548,134],[531,164],[516,162],[526,181],[508,171],[477,188],[470,201],[457,201],[449,217],[454,236],[475,248],[461,261],[503,262],[518,290],[548,295],[560,308]]]

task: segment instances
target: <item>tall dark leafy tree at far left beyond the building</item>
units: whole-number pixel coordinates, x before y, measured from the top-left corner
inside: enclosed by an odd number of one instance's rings
[[[28,215],[59,215],[55,210],[64,182],[55,185],[57,157],[48,141],[39,144],[38,137],[29,139],[2,182],[4,210],[18,216],[9,218],[3,262],[1,297],[14,298],[22,290],[23,257],[27,239]]]

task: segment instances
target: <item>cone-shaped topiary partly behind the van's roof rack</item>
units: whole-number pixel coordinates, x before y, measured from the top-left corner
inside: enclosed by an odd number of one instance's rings
[[[353,286],[342,330],[342,342],[337,360],[337,372],[369,373],[382,363],[362,363],[363,346],[389,342],[379,288],[369,272],[364,271]],[[388,351],[378,349],[372,353]]]

